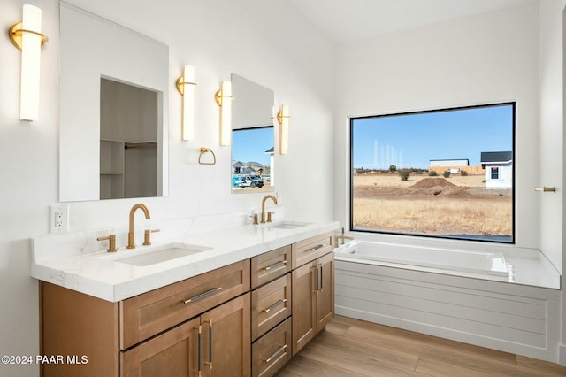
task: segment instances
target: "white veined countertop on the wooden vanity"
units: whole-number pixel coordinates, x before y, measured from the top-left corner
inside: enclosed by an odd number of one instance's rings
[[[45,235],[33,239],[31,275],[41,281],[118,302],[311,236],[333,232],[338,226],[337,221],[310,223],[294,229],[242,225],[178,235],[158,240],[151,246],[138,246],[134,250],[119,247],[117,253],[89,250],[107,246],[107,242],[101,244],[93,240],[96,236],[108,235],[108,232]],[[142,243],[139,241],[140,233],[143,232],[136,232],[136,243]],[[172,242],[204,246],[210,250],[147,266],[127,265],[113,260]],[[118,246],[123,245],[118,242]]]

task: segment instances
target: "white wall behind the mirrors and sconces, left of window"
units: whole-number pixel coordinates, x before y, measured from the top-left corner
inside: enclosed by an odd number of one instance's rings
[[[29,277],[30,237],[49,233],[58,198],[58,2],[0,0],[0,29],[21,19],[21,5],[43,11],[50,41],[42,51],[40,120],[19,121],[20,52],[0,36],[0,353],[34,355],[37,281]],[[287,217],[332,218],[333,47],[287,4],[264,0],[75,0],[70,3],[169,44],[169,196],[143,200],[152,219],[180,219],[257,209],[261,195],[230,194],[230,149],[218,145],[213,95],[231,73],[271,88],[291,109],[290,147],[276,156]],[[132,11],[135,10],[135,17]],[[195,141],[180,141],[180,96],[174,81],[195,65]],[[235,104],[234,104],[235,105]],[[198,165],[201,146],[218,163]],[[297,168],[303,166],[304,168]],[[307,182],[315,181],[316,184]],[[126,226],[133,200],[72,203],[71,231]],[[29,376],[32,366],[0,365],[1,375]]]

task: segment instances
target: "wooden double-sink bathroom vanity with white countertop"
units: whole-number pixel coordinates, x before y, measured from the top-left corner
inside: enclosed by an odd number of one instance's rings
[[[335,228],[247,225],[189,235],[209,249],[145,266],[106,255],[120,251],[36,256],[41,354],[64,358],[41,365],[42,375],[273,375],[333,319]],[[37,252],[52,240],[34,242]]]

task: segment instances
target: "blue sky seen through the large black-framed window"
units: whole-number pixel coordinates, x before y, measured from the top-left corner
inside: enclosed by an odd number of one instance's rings
[[[481,152],[513,150],[513,106],[359,118],[352,125],[355,168],[428,169],[431,159],[479,165]]]

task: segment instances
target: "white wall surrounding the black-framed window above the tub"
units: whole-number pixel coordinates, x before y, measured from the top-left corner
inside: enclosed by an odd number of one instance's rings
[[[340,45],[335,218],[348,224],[348,117],[516,101],[516,244],[538,248],[538,25],[534,2]]]

